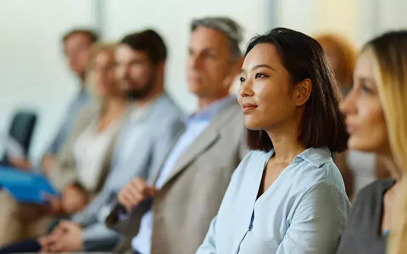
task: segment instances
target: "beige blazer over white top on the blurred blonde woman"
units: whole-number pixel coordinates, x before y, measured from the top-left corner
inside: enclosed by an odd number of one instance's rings
[[[88,128],[88,126],[91,124],[93,120],[99,117],[101,108],[102,105],[100,103],[93,103],[82,109],[76,120],[74,128],[70,135],[68,136],[68,139],[65,142],[62,150],[56,155],[55,164],[51,168],[48,174],[48,178],[50,179],[52,184],[60,191],[63,190],[66,185],[77,182],[78,180],[76,170],[76,160],[73,152],[73,147],[78,137],[85,131],[86,128]],[[127,118],[127,116],[128,112],[123,113],[123,115],[119,119],[120,124],[124,122],[124,119]],[[101,169],[99,171],[100,174],[95,176],[98,178],[96,188],[87,189],[91,197],[93,197],[96,193],[98,193],[101,190],[103,183],[106,179],[106,176],[109,172],[110,161],[112,158],[118,133],[119,132],[117,132],[113,136],[113,139],[111,140],[106,150],[103,162],[101,163]]]

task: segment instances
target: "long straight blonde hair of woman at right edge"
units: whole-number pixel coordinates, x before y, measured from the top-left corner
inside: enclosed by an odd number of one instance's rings
[[[388,253],[407,253],[407,30],[392,31],[368,42],[386,117],[389,142],[401,175],[397,216],[390,228]]]

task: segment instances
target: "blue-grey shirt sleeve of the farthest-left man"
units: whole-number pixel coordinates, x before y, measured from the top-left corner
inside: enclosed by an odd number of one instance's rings
[[[89,99],[89,94],[88,92],[86,92],[85,89],[82,89],[80,92],[78,92],[74,100],[70,103],[60,129],[57,132],[55,138],[52,140],[51,145],[48,147],[46,151],[47,153],[56,154],[61,150],[68,135],[72,131],[79,112],[86,104],[88,104]]]

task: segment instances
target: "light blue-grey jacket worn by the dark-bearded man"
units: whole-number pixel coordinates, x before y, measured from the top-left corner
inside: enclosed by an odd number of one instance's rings
[[[141,112],[140,114],[133,113]],[[114,151],[111,169],[101,192],[72,220],[83,227],[84,250],[98,249],[106,242],[117,241],[118,234],[106,228],[104,221],[118,192],[131,179],[146,178],[166,155],[176,135],[184,128],[181,110],[166,95],[148,108],[134,108],[123,125]]]

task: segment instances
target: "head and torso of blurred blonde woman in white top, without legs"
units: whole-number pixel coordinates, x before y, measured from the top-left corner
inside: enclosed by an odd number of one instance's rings
[[[127,102],[114,74],[114,45],[97,44],[91,51],[88,89],[94,99],[79,115],[56,163],[49,172],[51,182],[63,192],[56,209],[72,214],[80,211],[103,186]],[[52,201],[52,200],[51,200]]]

